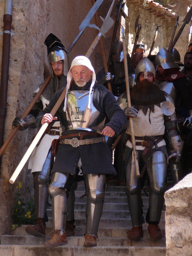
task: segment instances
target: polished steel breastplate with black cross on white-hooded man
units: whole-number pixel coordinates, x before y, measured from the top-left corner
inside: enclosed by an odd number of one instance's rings
[[[105,123],[105,116],[93,106],[92,97],[93,90],[90,108],[88,108],[89,91],[68,92],[66,112],[62,111],[60,116],[63,131],[85,130],[101,134]]]

